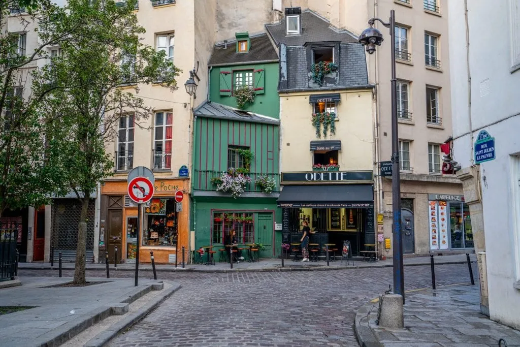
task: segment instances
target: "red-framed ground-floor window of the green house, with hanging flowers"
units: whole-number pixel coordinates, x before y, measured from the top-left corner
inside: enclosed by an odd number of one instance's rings
[[[213,212],[213,243],[224,243],[231,229],[235,229],[238,243],[254,242],[253,213]]]

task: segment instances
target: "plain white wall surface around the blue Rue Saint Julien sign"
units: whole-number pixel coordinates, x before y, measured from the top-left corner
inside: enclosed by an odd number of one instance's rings
[[[471,74],[471,121],[473,134],[486,130],[495,137],[496,159],[480,164],[490,317],[520,328],[520,280],[518,254],[520,225],[518,172],[513,155],[520,152],[520,70],[512,71],[511,2],[468,1]],[[472,164],[473,143],[469,121],[468,75],[464,2],[450,1],[450,69],[454,159],[465,168]],[[518,23],[517,23],[518,25]]]

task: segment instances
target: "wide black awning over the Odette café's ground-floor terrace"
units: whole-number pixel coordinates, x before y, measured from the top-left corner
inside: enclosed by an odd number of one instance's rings
[[[371,208],[374,188],[371,184],[283,186],[277,202],[285,208]]]

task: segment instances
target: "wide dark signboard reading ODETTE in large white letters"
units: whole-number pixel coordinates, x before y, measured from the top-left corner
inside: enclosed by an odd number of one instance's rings
[[[370,183],[374,180],[373,171],[310,171],[282,172],[282,184],[352,184]]]

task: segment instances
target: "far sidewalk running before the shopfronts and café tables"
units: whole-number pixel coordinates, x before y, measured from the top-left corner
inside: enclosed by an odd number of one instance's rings
[[[466,263],[466,255],[465,254],[457,254],[457,255],[436,255],[434,257],[436,265],[443,264],[463,264]],[[204,256],[204,261],[206,260]],[[476,255],[470,254],[470,260],[472,262],[476,262]],[[184,272],[260,272],[260,271],[308,271],[308,270],[333,270],[333,269],[348,269],[348,268],[370,268],[370,267],[392,267],[393,261],[392,259],[380,260],[377,262],[366,262],[355,260],[354,265],[352,265],[352,260],[349,260],[348,266],[346,261],[341,262],[339,258],[337,258],[334,262],[329,262],[329,266],[327,266],[327,261],[320,260],[318,262],[293,262],[291,259],[284,259],[284,267],[281,266],[281,259],[278,258],[264,258],[259,262],[249,263],[248,261],[240,261],[238,264],[233,264],[233,269],[230,268],[229,263],[219,263],[218,255],[216,258],[215,265],[185,265],[185,268],[179,263],[177,267],[175,265],[166,265],[166,264],[156,264],[155,267],[157,271],[184,271]],[[405,258],[404,259],[405,266],[417,266],[417,265],[429,265],[430,257],[429,256],[417,256],[413,258]],[[73,263],[63,263],[63,269],[74,269]],[[24,269],[57,269],[58,263],[54,263],[54,267],[50,266],[50,263],[20,263],[19,268]],[[88,270],[99,270],[105,271],[105,264],[87,264]],[[110,264],[110,271],[134,271],[135,264],[118,264],[117,267],[114,267],[114,264]],[[150,264],[140,264],[140,271],[152,271],[152,266]]]

